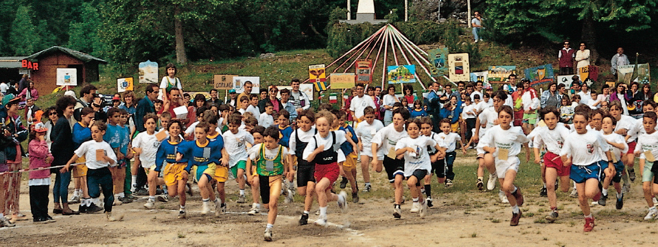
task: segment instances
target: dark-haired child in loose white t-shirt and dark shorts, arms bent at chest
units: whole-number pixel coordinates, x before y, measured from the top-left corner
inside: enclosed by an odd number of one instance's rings
[[[413,204],[411,212],[418,212],[421,217],[427,213],[427,200],[421,193],[421,180],[430,174],[432,160],[443,158],[443,152],[436,152],[431,158],[427,152],[427,146],[437,150],[441,147],[432,139],[421,135],[421,119],[410,119],[406,121],[408,137],[403,137],[395,144],[395,155],[404,157],[404,177],[411,191]]]

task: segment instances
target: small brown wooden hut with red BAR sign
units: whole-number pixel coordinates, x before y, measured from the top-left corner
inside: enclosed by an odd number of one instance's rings
[[[39,51],[27,56],[25,60],[30,63],[27,68],[30,69],[30,78],[34,82],[34,87],[43,95],[58,87],[56,84],[58,68],[77,69],[78,86],[80,86],[84,83],[97,82],[98,64],[107,64],[106,60],[59,46]]]

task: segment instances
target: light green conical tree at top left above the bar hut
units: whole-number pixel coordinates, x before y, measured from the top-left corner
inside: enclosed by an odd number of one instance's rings
[[[16,9],[16,18],[12,22],[12,31],[9,36],[9,46],[16,56],[33,54],[40,43],[36,26],[32,23],[33,17],[29,5],[19,6]]]

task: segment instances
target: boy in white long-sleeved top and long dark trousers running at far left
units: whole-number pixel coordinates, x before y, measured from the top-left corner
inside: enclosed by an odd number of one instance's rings
[[[124,218],[123,215],[114,217],[112,215],[112,204],[114,202],[114,193],[112,185],[112,173],[108,166],[117,165],[117,155],[114,153],[110,144],[103,141],[103,136],[107,126],[102,122],[95,122],[91,126],[91,141],[85,141],[80,148],[75,150],[73,157],[67,162],[60,172],[68,172],[71,163],[79,157],[86,158],[85,165],[87,171],[87,186],[89,187],[89,196],[99,198],[100,190],[103,191],[105,215],[110,222],[119,221]]]

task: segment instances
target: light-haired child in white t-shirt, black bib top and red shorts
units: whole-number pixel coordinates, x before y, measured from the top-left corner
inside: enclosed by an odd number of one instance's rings
[[[347,208],[346,193],[341,191],[340,195],[331,192],[331,185],[338,179],[340,167],[338,163],[345,161],[345,154],[340,150],[340,145],[349,141],[353,148],[356,146],[351,139],[346,138],[342,130],[330,131],[333,115],[327,110],[320,110],[316,114],[316,128],[318,134],[313,136],[304,149],[303,158],[308,163],[315,163],[315,192],[318,194],[320,205],[320,217],[316,224],[327,225],[327,202],[338,201],[338,207],[343,211]]]

